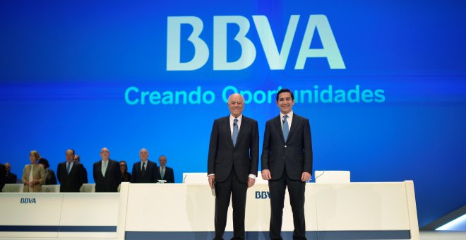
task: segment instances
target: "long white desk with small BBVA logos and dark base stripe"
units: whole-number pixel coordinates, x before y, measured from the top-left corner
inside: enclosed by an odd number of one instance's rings
[[[123,183],[120,193],[0,193],[0,200],[0,238],[6,239],[212,239],[214,232],[215,198],[207,183]],[[228,214],[227,232],[232,231],[231,207]],[[412,181],[306,184],[305,215],[310,239],[347,234],[359,239],[419,239]],[[269,220],[268,185],[256,184],[247,193],[247,237],[266,239]],[[31,230],[35,232],[27,232]],[[285,239],[292,230],[286,196]]]

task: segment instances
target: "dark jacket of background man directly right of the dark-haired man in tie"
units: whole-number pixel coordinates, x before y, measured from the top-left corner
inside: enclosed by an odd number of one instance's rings
[[[102,176],[102,160],[94,163],[94,181],[96,192],[117,192],[121,183],[120,164],[109,160],[105,176]]]

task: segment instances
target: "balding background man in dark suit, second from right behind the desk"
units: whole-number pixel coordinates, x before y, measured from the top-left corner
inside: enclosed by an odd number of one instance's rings
[[[157,164],[149,160],[149,152],[143,148],[139,151],[141,161],[133,164],[131,183],[151,184],[160,180],[160,172]]]

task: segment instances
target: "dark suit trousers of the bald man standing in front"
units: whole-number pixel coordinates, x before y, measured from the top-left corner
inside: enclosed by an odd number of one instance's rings
[[[238,181],[234,169],[225,181],[215,182],[215,239],[223,239],[230,195],[233,207],[233,239],[244,239],[247,190],[248,184]]]

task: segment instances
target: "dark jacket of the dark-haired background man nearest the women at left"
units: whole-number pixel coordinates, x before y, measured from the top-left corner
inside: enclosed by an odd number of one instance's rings
[[[66,161],[58,164],[56,168],[56,178],[60,182],[60,192],[79,192],[79,188],[84,184],[83,164],[74,162],[70,173],[66,173]]]

